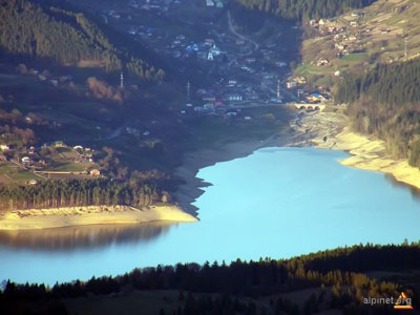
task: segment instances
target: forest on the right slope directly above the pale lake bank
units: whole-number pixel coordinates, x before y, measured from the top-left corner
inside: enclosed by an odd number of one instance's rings
[[[386,141],[395,158],[420,167],[420,59],[378,64],[340,82],[336,101],[350,103],[357,131]]]

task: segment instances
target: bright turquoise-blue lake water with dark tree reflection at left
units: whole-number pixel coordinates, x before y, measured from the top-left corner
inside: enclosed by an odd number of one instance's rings
[[[135,267],[288,258],[420,239],[420,198],[341,151],[265,148],[198,176],[200,222],[0,233],[0,281],[86,280]]]

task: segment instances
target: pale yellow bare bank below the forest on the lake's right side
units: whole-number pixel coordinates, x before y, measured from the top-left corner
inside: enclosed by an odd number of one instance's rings
[[[420,170],[406,159],[395,160],[386,151],[385,142],[355,133],[343,114],[336,111],[311,112],[298,115],[291,123],[302,134],[294,145],[315,145],[319,148],[348,151],[352,156],[341,164],[391,175],[396,181],[420,190]]]

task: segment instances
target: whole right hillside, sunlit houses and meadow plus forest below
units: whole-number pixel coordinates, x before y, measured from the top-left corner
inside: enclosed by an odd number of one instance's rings
[[[386,141],[395,159],[420,167],[420,1],[379,0],[304,27],[310,38],[295,74],[350,104],[356,131]],[[321,23],[322,22],[322,23]],[[323,60],[322,65],[319,60]]]

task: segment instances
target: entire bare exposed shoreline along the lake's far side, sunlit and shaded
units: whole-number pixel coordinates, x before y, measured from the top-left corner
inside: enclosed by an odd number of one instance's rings
[[[204,188],[211,185],[197,177],[200,169],[246,157],[265,147],[315,146],[320,149],[347,151],[351,156],[339,161],[341,164],[379,171],[390,175],[398,183],[420,190],[420,170],[409,166],[406,159],[392,159],[386,152],[384,141],[351,131],[348,118],[341,107],[325,112],[296,111],[296,117],[291,119],[289,127],[289,130],[277,132],[265,140],[247,139],[222,143],[210,149],[187,153],[182,165],[175,170],[175,177],[181,179],[183,184],[175,193],[174,204],[154,205],[145,209],[89,206],[15,210],[0,216],[0,231],[156,221],[196,222],[199,220],[199,209],[194,206],[194,202],[204,193]]]

